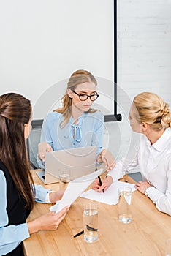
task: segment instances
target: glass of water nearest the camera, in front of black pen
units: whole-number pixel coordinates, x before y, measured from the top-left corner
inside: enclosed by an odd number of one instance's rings
[[[98,206],[89,202],[83,206],[84,240],[93,243],[99,238],[98,230]]]

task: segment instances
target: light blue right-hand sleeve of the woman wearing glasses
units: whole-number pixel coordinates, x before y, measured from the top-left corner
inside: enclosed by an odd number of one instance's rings
[[[96,118],[96,125],[94,127],[94,137],[92,139],[92,146],[96,145],[97,151],[96,155],[102,151],[103,145],[103,134],[104,134],[104,116],[101,112],[98,111],[98,115],[95,116]]]

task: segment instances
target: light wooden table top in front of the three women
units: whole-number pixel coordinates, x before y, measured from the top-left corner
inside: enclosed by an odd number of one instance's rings
[[[42,184],[33,171],[35,184]],[[121,181],[134,183],[124,176]],[[50,184],[46,188],[58,190],[65,184]],[[83,235],[83,204],[88,200],[77,198],[58,230],[40,231],[24,241],[25,255],[31,256],[164,256],[165,240],[171,238],[171,218],[156,209],[150,199],[136,191],[132,194],[132,222],[118,221],[118,206],[99,205],[99,241],[88,244]],[[49,211],[51,204],[36,203],[28,221]]]

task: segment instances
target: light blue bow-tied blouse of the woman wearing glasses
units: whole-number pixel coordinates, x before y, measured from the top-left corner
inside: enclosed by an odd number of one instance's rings
[[[84,146],[97,146],[97,155],[102,151],[104,116],[99,110],[83,113],[77,118],[77,124],[74,124],[75,120],[71,116],[66,126],[61,128],[63,118],[58,112],[47,115],[42,125],[41,142],[46,141],[54,151]],[[44,163],[38,157],[37,163],[44,168]]]

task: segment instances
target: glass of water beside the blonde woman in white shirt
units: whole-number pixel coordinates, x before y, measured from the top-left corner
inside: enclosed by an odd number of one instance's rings
[[[120,222],[129,223],[132,222],[132,188],[120,187],[118,189],[119,201],[118,201],[118,219]]]

